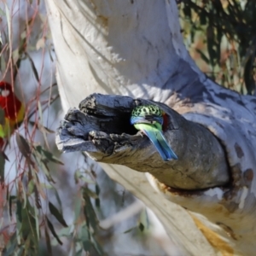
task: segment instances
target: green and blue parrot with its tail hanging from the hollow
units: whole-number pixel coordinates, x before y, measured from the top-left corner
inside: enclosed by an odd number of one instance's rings
[[[162,160],[177,160],[177,155],[173,152],[171,146],[167,143],[163,134],[162,126],[166,119],[164,113],[158,106],[144,105],[137,106],[131,112],[131,125],[150,139],[157,149]]]

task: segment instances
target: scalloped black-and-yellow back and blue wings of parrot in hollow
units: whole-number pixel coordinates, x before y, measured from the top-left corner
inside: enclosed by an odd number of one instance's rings
[[[165,125],[166,113],[156,105],[137,106],[131,112],[131,125],[154,124]]]

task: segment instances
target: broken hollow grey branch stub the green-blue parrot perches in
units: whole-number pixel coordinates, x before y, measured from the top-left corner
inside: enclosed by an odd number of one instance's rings
[[[152,103],[168,116],[165,137],[178,160],[161,160],[148,137],[130,124],[133,108]],[[61,150],[86,151],[97,161],[149,172],[176,189],[206,189],[230,182],[224,149],[216,137],[165,104],[94,94],[84,99],[79,109],[71,109],[61,125]]]

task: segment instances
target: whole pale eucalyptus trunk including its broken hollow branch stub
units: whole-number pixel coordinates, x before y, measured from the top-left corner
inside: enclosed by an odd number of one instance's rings
[[[182,255],[255,254],[256,98],[195,66],[175,1],[46,4],[63,107],[84,100],[67,113],[59,148],[102,162],[154,211]],[[132,108],[148,102],[168,114],[177,161],[162,162],[129,128]]]

